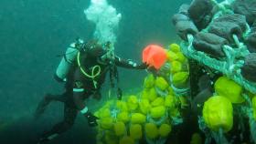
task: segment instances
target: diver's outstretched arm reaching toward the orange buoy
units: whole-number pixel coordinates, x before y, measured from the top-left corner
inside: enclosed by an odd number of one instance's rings
[[[114,62],[115,62],[115,65],[118,67],[133,68],[133,69],[146,69],[147,68],[147,66],[144,63],[137,65],[135,62],[133,62],[130,59],[124,60],[120,57],[115,57]]]

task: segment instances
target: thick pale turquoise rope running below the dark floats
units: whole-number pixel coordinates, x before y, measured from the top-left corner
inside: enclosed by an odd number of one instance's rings
[[[194,37],[192,35],[187,35],[188,43],[182,41],[181,51],[185,56],[193,58],[200,62],[202,65],[208,66],[212,69],[215,69],[229,78],[237,82],[241,87],[251,91],[251,93],[256,93],[256,83],[246,80],[240,74],[240,67],[242,67],[244,61],[238,60],[234,64],[234,59],[236,57],[245,57],[249,54],[247,47],[243,44],[241,48],[232,48],[230,46],[223,46],[223,51],[226,54],[227,59],[218,60],[216,58],[208,57],[204,52],[200,52],[194,49],[192,46]],[[241,54],[242,53],[242,54]],[[235,56],[234,56],[235,55]],[[226,61],[228,60],[228,62]],[[232,71],[232,73],[230,73]]]

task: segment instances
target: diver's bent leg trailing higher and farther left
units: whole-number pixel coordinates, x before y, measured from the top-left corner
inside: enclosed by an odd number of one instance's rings
[[[48,104],[53,100],[65,102],[65,100],[66,100],[65,93],[62,95],[46,94],[45,97],[37,105],[37,109],[35,112],[35,118],[38,118],[41,114],[43,114],[45,109],[47,108]]]

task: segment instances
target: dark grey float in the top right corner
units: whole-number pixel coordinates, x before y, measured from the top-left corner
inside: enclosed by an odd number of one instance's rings
[[[256,19],[256,0],[236,0],[232,5],[235,14],[245,15],[251,26]]]

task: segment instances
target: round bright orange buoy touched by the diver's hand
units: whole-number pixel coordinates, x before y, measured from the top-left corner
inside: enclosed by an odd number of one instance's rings
[[[143,62],[149,67],[159,69],[165,64],[166,59],[166,51],[162,46],[149,45],[144,47]]]

